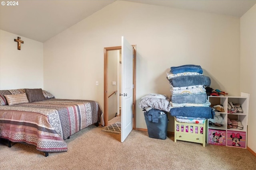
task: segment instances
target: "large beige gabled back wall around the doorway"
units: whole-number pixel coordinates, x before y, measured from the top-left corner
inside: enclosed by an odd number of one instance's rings
[[[212,88],[240,95],[240,18],[125,1],[44,43],[44,88],[58,98],[97,100],[103,109],[104,47],[121,45],[121,36],[137,45],[137,128],[146,129],[142,96],[170,96],[170,66],[201,65]]]

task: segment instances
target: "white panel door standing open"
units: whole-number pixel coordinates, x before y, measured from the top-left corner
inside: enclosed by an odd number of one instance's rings
[[[122,115],[121,142],[132,131],[132,103],[133,103],[133,47],[122,37]]]

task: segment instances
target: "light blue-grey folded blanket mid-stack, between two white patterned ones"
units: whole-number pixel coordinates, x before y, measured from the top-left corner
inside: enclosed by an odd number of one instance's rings
[[[193,103],[204,104],[207,102],[206,93],[198,94],[174,94],[171,99],[172,103]]]

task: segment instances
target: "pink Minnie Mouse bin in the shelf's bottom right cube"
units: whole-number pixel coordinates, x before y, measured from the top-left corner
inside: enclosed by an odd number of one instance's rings
[[[246,132],[227,131],[227,146],[246,148]]]

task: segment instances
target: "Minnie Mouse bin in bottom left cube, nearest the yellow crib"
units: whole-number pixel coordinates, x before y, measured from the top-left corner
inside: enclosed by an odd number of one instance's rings
[[[209,129],[208,144],[226,145],[226,131],[222,131],[218,129]]]

